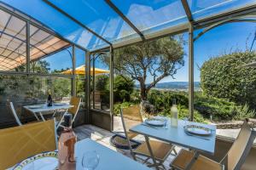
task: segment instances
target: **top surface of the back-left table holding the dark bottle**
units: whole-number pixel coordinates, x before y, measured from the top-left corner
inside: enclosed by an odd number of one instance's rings
[[[37,108],[37,109],[32,109],[29,108],[31,106],[42,106],[41,108]],[[23,106],[26,110],[28,111],[32,111],[34,113],[37,112],[44,112],[44,111],[55,111],[55,110],[60,110],[60,109],[68,109],[73,107],[73,105],[69,105],[69,104],[65,104],[65,105],[52,105],[52,106],[47,106],[47,105],[25,105]]]

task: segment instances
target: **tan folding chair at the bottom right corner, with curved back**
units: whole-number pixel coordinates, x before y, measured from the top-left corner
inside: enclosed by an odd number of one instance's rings
[[[191,169],[202,170],[207,167],[207,170],[239,170],[251,150],[255,137],[256,131],[253,131],[248,125],[247,120],[245,120],[236,141],[222,161],[212,161],[205,156],[198,156],[191,165]],[[181,150],[174,161],[172,161],[172,167],[175,169],[185,169],[189,161],[192,160],[192,157],[193,153],[191,151]]]

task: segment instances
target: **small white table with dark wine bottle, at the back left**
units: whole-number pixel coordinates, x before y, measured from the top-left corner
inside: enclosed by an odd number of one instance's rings
[[[58,111],[58,110],[68,110],[69,108],[73,107],[73,105],[69,104],[53,104],[52,106],[47,106],[47,105],[24,105],[23,106],[27,111],[31,111],[33,115],[37,118],[39,121],[38,115],[41,117],[43,121],[44,119],[44,113],[49,112],[49,111]],[[37,107],[37,108],[36,108]]]

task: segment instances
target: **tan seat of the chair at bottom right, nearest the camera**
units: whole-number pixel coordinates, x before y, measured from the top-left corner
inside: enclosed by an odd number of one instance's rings
[[[184,169],[188,163],[192,160],[194,153],[189,150],[181,150],[177,157],[172,161],[172,167],[177,169]],[[212,161],[205,156],[198,156],[197,160],[194,162],[191,170],[221,170],[222,165],[217,161]]]

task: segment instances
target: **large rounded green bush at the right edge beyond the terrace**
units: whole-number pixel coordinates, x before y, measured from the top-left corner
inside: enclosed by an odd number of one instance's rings
[[[204,94],[256,108],[256,70],[241,66],[255,59],[255,52],[236,52],[207,60],[201,67]],[[230,109],[223,110],[231,113]]]

